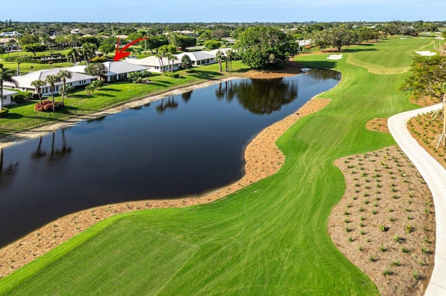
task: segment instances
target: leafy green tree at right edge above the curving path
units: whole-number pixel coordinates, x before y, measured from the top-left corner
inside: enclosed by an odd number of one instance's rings
[[[409,90],[415,96],[430,96],[443,102],[443,133],[438,145],[443,140],[443,146],[446,146],[446,56],[417,56],[410,70],[411,74],[400,90]]]

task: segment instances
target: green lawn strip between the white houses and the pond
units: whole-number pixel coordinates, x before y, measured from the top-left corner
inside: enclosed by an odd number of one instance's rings
[[[217,79],[224,75],[237,75],[238,72],[243,72],[246,69],[240,61],[236,61],[233,62],[233,72],[230,73],[220,73],[218,72],[218,65],[209,65],[197,67],[194,73],[180,71],[178,72],[181,76],[180,79],[155,75],[151,77],[152,82],[148,84],[112,83],[105,85],[102,90],[98,90],[92,95],[86,94],[85,91],[76,92],[71,97],[65,99],[66,109],[61,113],[41,113],[35,111],[34,105],[38,101],[27,101],[25,104],[8,106],[8,118],[0,119],[0,136],[60,122],[74,116],[94,113],[122,104],[125,101],[147,97],[148,95],[176,88],[180,85]],[[47,99],[51,99],[51,97]],[[56,101],[59,100],[60,97],[56,97]]]

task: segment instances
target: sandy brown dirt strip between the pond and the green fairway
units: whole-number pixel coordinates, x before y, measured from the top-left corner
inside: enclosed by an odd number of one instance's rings
[[[72,238],[77,233],[116,213],[146,208],[171,208],[206,204],[271,176],[284,163],[284,155],[275,145],[275,141],[300,118],[320,110],[327,106],[329,102],[329,99],[312,99],[302,106],[297,113],[286,117],[281,122],[272,124],[272,126],[261,131],[259,135],[256,135],[256,138],[245,149],[245,176],[236,183],[199,197],[111,204],[60,217],[58,220],[0,249],[0,277],[5,277],[22,265]]]

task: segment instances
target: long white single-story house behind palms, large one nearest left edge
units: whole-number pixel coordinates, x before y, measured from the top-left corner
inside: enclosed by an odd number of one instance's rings
[[[33,85],[31,85],[31,83],[33,81],[36,81],[36,80],[45,81],[45,79],[47,79],[47,76],[56,75],[63,69],[70,71],[69,68],[40,70],[40,71],[36,71],[36,72],[31,72],[29,74],[22,75],[22,76],[14,76],[13,78],[15,81],[17,81],[18,86],[15,86],[13,83],[6,82],[6,81],[3,83],[3,85],[5,85],[7,88],[13,88],[13,89],[23,90],[23,91],[28,91],[28,92],[35,92],[36,88],[34,88]],[[96,79],[95,76],[90,76],[87,74],[82,74],[82,73],[77,73],[77,72],[72,72],[72,71],[70,71],[70,72],[71,72],[71,78],[67,79],[66,84],[71,85],[75,88],[89,85],[91,83],[91,81]],[[59,89],[62,88],[62,85],[63,85],[62,82],[56,83],[56,85],[54,85],[54,93],[55,94],[57,92],[59,92]],[[51,86],[44,85],[43,87],[40,88],[40,93],[42,95],[50,95],[52,93]]]

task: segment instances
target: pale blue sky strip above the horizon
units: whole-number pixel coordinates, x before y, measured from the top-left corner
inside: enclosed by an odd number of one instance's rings
[[[444,21],[445,0],[3,0],[22,22]]]

